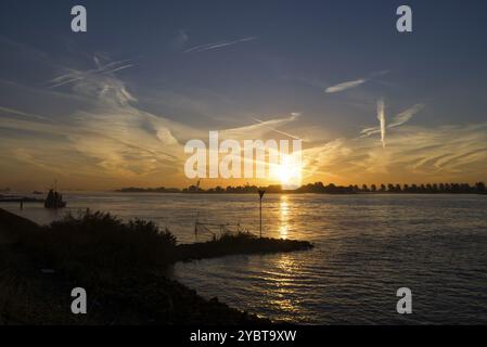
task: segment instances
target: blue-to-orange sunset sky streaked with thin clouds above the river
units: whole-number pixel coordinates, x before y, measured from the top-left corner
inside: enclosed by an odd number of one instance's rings
[[[474,0],[4,0],[0,189],[187,187],[210,130],[302,139],[305,183],[486,181],[486,41]]]

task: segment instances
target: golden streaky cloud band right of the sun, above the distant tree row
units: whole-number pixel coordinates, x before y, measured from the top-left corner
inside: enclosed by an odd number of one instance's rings
[[[341,138],[303,152],[304,179],[339,183],[450,182],[487,175],[487,123],[396,128],[387,147]]]

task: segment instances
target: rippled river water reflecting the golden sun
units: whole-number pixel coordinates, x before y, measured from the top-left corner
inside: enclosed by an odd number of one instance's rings
[[[258,230],[253,195],[66,197],[75,211],[90,207],[152,219],[180,242],[194,242],[196,214],[203,222]],[[9,209],[20,213],[15,205]],[[21,214],[39,222],[56,218],[35,205]],[[487,196],[266,195],[264,233],[309,240],[316,248],[178,264],[174,277],[207,298],[274,320],[487,323]],[[413,314],[396,312],[402,286],[412,291]]]

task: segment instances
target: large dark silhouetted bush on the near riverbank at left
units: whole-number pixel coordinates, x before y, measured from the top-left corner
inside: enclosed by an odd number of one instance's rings
[[[75,277],[116,277],[165,267],[174,257],[176,237],[152,221],[124,223],[110,214],[87,211],[67,215],[24,243],[43,267]]]

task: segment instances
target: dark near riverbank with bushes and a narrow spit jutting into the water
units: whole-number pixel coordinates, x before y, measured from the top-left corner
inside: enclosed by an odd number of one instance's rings
[[[143,220],[94,213],[40,227],[0,209],[0,323],[266,324],[217,298],[205,300],[168,279],[168,269],[179,260],[310,247],[251,234],[178,245],[168,230]],[[71,313],[78,286],[87,291],[88,314]]]

